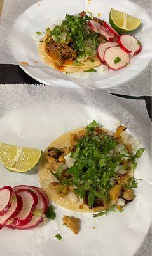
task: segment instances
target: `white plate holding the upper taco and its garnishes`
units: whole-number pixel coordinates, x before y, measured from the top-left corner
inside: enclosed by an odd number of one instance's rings
[[[62,74],[50,67],[44,67],[43,61],[39,60],[36,42],[33,35],[36,31],[45,29],[55,24],[57,20],[64,19],[66,13],[76,14],[81,10],[88,10],[93,15],[101,14],[101,19],[108,22],[111,8],[142,19],[142,26],[135,33],[141,40],[142,52],[131,59],[130,64],[121,70],[109,72],[88,73],[83,76]],[[22,67],[23,70],[37,81],[44,84],[59,84],[61,86],[83,86],[89,88],[106,88],[137,76],[148,65],[151,59],[151,19],[139,6],[127,0],[43,0],[34,4],[18,17],[12,29],[12,51],[17,63],[22,61],[29,65],[43,67]],[[37,62],[37,64],[35,63]],[[99,68],[100,70],[100,68]]]

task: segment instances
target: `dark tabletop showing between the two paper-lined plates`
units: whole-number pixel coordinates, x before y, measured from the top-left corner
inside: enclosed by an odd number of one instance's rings
[[[17,65],[0,65],[0,83],[1,84],[40,84],[38,81],[32,79],[30,76]],[[135,97],[130,95],[114,94],[118,97],[130,99],[144,99],[148,110],[149,117],[151,118],[151,96]]]

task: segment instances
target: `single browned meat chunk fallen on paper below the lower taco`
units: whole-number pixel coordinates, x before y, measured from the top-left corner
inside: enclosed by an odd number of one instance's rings
[[[80,230],[80,220],[75,217],[69,217],[65,215],[63,218],[63,223],[67,225],[68,228],[70,228],[74,234],[78,234]]]

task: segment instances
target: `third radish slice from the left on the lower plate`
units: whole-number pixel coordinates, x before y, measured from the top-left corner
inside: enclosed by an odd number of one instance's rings
[[[16,226],[23,226],[32,220],[32,212],[38,204],[38,197],[30,189],[20,189],[16,193],[22,197],[23,207],[12,223]]]

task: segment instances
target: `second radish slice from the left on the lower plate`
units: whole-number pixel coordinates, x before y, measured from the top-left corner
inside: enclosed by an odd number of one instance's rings
[[[11,200],[12,203],[9,211],[0,217],[0,230],[11,220],[11,218],[15,218],[22,211],[22,197],[20,195],[14,195]]]

